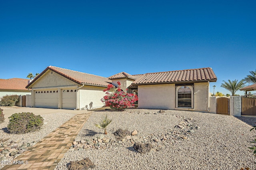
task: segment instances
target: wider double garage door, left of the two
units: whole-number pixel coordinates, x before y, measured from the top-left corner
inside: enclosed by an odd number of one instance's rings
[[[58,91],[57,90],[36,91],[35,107],[58,109]]]

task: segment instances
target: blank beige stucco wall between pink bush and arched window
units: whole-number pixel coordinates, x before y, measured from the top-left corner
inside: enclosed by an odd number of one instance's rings
[[[175,84],[139,85],[138,108],[175,109]]]

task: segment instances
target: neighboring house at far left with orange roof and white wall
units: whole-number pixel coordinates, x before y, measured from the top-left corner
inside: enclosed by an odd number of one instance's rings
[[[31,92],[26,89],[28,79],[0,79],[0,98],[5,95],[30,95]]]

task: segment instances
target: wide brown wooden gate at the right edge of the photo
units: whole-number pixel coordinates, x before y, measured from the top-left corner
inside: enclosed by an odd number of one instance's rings
[[[255,97],[242,97],[242,115],[256,115]]]

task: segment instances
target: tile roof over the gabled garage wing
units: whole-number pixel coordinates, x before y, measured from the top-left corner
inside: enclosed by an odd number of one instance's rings
[[[106,77],[101,77],[98,75],[93,75],[93,74],[88,74],[88,73],[82,73],[82,72],[73,71],[70,69],[63,69],[60,67],[49,66],[44,71],[42,71],[42,73],[40,73],[31,83],[29,83],[27,85],[27,87],[30,87],[30,85],[32,85],[32,83],[34,83],[48,69],[66,77],[67,79],[70,79],[80,85],[92,85],[92,86],[107,87],[110,84],[110,81]]]

